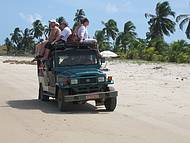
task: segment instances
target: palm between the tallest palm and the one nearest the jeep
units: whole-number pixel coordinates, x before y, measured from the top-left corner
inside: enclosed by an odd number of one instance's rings
[[[137,33],[135,30],[136,27],[133,22],[126,22],[123,32],[120,32],[116,39],[116,48],[121,48],[122,50],[124,49],[126,52],[127,47],[129,47],[133,41],[136,40]]]

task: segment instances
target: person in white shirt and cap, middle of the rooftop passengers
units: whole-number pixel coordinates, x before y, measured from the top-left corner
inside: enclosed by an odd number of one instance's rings
[[[61,31],[61,35],[57,43],[66,43],[67,39],[72,34],[71,29],[68,27],[68,23],[66,21],[62,21],[60,23],[60,28],[63,30]]]

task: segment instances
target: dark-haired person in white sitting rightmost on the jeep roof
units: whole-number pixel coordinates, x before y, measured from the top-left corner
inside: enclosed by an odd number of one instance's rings
[[[81,43],[83,43],[83,42],[87,42],[87,43],[97,42],[96,39],[90,39],[89,38],[88,29],[87,29],[88,26],[89,26],[89,20],[87,18],[84,18],[82,20],[80,28],[77,31],[77,36],[78,36],[79,41]]]

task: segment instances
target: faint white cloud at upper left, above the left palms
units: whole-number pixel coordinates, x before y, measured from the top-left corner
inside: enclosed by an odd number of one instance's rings
[[[28,23],[33,23],[35,20],[42,20],[42,16],[38,13],[24,14],[20,12],[19,16]]]

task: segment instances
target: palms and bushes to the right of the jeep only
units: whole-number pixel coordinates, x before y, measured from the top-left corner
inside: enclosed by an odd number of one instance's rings
[[[155,14],[146,13],[145,18],[148,19],[149,31],[146,39],[140,39],[135,32],[136,27],[132,21],[124,24],[124,30],[118,32],[117,23],[103,23],[105,28],[95,33],[98,40],[100,50],[109,49],[117,52],[121,59],[146,60],[156,62],[176,62],[190,63],[190,45],[184,40],[166,43],[165,36],[174,34],[176,22],[183,30],[188,23],[185,34],[190,39],[190,14],[179,15],[175,22],[175,12],[170,7],[169,2],[160,2],[156,5]],[[112,38],[112,46],[110,46],[110,37]]]

